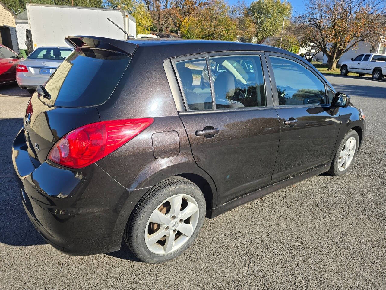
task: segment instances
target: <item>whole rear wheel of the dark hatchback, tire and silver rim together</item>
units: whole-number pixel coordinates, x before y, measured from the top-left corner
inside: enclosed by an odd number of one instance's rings
[[[152,188],[135,206],[124,239],[141,261],[166,262],[193,244],[205,211],[201,190],[188,179],[173,176]]]

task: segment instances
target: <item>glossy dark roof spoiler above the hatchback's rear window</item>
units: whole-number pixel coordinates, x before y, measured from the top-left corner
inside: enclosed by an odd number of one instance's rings
[[[115,51],[132,56],[137,44],[128,41],[105,38],[99,36],[67,36],[64,41],[73,48],[95,48],[100,50]]]

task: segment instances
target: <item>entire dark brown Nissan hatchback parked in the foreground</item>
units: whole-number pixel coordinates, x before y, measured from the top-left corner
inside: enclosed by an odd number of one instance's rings
[[[74,51],[32,95],[12,149],[27,215],[66,254],[117,251],[123,238],[141,261],[168,261],[205,217],[341,176],[361,147],[362,111],[288,51],[66,42]]]

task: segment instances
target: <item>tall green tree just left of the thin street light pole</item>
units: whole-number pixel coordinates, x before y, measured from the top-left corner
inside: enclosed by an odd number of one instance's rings
[[[257,0],[245,9],[244,21],[253,23],[257,43],[263,43],[268,37],[281,31],[283,18],[290,17],[292,7],[285,0]],[[248,25],[249,29],[252,29]]]

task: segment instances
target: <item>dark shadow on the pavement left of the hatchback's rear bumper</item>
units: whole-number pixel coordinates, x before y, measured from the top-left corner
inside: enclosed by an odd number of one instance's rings
[[[12,165],[12,142],[22,118],[0,119],[0,242],[11,246],[46,244],[27,217]]]

